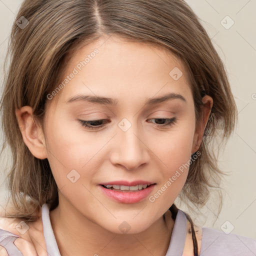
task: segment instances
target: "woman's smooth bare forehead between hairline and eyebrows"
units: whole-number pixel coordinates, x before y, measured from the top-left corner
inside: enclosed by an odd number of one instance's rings
[[[185,66],[170,51],[114,36],[78,47],[60,82],[63,86],[57,96],[61,101],[77,93],[143,100],[190,90]]]

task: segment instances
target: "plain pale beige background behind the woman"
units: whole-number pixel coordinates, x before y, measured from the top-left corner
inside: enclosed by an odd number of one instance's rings
[[[204,215],[193,219],[203,226],[256,239],[256,0],[186,1],[201,19],[225,63],[239,112],[239,124],[219,157],[220,167],[230,172],[222,183],[225,190],[222,210],[213,224],[216,209],[212,197],[201,209]],[[0,90],[7,38],[20,4],[21,0],[0,0]],[[10,161],[10,154],[3,155],[2,161]],[[0,176],[1,210],[7,190],[4,176]],[[185,205],[178,206],[186,209]]]

